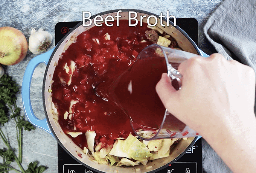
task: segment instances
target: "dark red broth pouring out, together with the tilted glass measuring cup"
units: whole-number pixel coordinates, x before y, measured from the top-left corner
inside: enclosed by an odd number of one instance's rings
[[[99,96],[116,103],[130,117],[134,132],[142,139],[186,137],[189,131],[194,133],[165,109],[157,95],[155,86],[162,73],[169,73],[172,80],[182,80],[177,71],[179,61],[170,52],[161,51],[166,48],[160,48],[154,44],[143,49],[126,72],[96,87]],[[167,134],[161,135],[163,132]]]

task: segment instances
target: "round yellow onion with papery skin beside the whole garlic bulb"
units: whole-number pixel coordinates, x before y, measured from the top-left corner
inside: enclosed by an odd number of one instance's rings
[[[28,44],[21,31],[13,27],[0,28],[0,64],[20,63],[27,54]]]

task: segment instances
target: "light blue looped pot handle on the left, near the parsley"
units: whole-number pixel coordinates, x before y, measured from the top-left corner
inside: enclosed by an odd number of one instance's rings
[[[38,119],[32,110],[32,106],[30,102],[30,83],[31,83],[31,79],[32,79],[32,75],[34,73],[35,67],[37,67],[38,64],[40,63],[47,64],[54,49],[55,48],[51,49],[50,51],[44,54],[38,55],[29,61],[23,76],[23,81],[21,86],[23,107],[24,107],[24,111],[27,116],[27,119],[31,122],[31,124],[35,125],[36,127],[42,128],[43,130],[50,133],[52,136],[53,136],[53,133],[50,130],[50,127],[46,118],[42,120]]]

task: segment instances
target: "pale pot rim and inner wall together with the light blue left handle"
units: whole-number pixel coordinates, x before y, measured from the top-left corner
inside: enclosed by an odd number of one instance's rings
[[[120,19],[128,19],[128,12],[134,11],[137,12],[138,16],[140,15],[155,15],[153,13],[149,13],[142,10],[134,10],[134,9],[118,9],[122,10],[122,13],[120,13],[123,16],[123,18]],[[96,15],[91,16],[91,19],[97,15],[101,15],[106,17],[107,15],[115,16],[118,10],[111,10],[107,12],[98,13]],[[155,15],[158,18],[158,15]],[[159,19],[159,18],[158,18]],[[138,19],[139,20],[139,19]],[[166,19],[163,19],[164,22],[166,22]],[[158,22],[159,23],[159,22]],[[178,26],[173,26],[173,22],[169,21],[169,24],[171,24],[169,27],[161,27],[166,33],[170,34],[174,39],[177,40],[179,46],[184,50],[188,52],[192,52],[194,54],[207,56],[202,52],[197,45],[193,42],[192,39]],[[186,151],[200,138],[200,137],[193,137],[188,138],[187,140],[181,140],[177,145],[175,145],[174,148],[172,148],[171,155],[167,158],[160,158],[157,160],[153,160],[152,162],[149,162],[146,166],[139,165],[135,167],[117,167],[117,166],[109,166],[107,164],[97,164],[93,161],[91,161],[90,158],[92,158],[90,155],[85,155],[81,148],[76,146],[72,140],[64,134],[62,129],[59,127],[59,124],[57,122],[58,117],[52,113],[52,100],[51,95],[48,90],[51,88],[51,81],[52,81],[52,75],[55,69],[55,63],[58,62],[58,59],[65,49],[65,46],[69,44],[70,40],[74,39],[74,36],[77,36],[78,34],[82,33],[83,31],[90,29],[93,27],[94,24],[92,22],[92,25],[89,27],[83,27],[82,22],[80,22],[78,25],[76,25],[72,30],[69,31],[66,36],[64,36],[61,41],[58,43],[58,45],[55,46],[52,50],[38,55],[37,57],[33,58],[29,64],[27,65],[27,68],[24,73],[23,78],[23,84],[22,84],[22,99],[23,99],[23,106],[24,111],[26,113],[27,118],[29,121],[34,124],[37,127],[40,127],[44,130],[46,130],[48,133],[50,133],[55,139],[58,141],[59,145],[62,146],[62,148],[71,155],[76,161],[83,164],[84,166],[90,168],[91,170],[94,170],[96,172],[101,173],[114,173],[115,170],[118,172],[125,172],[125,173],[136,173],[136,169],[140,168],[141,173],[149,173],[149,172],[157,172],[158,170],[161,170],[165,167],[167,167],[169,164],[174,163],[178,158],[180,158],[182,155],[186,153]],[[38,119],[32,110],[31,102],[30,102],[30,83],[32,79],[33,72],[35,70],[35,67],[37,67],[38,64],[45,63],[47,64],[46,72],[44,74],[44,80],[43,80],[43,106],[44,111],[46,114],[46,118],[43,120]],[[81,155],[82,154],[82,155]],[[152,166],[151,169],[146,169],[146,167]]]

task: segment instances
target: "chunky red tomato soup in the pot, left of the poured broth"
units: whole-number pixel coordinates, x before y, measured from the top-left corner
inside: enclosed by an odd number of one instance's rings
[[[149,38],[152,34],[146,23],[142,27],[129,27],[128,20],[120,20],[118,27],[113,24],[79,34],[62,53],[53,74],[52,101],[59,124],[65,133],[83,133],[67,134],[82,149],[87,146],[84,133],[88,130],[96,132],[94,145],[111,145],[118,137],[133,133],[128,116],[112,101],[96,95],[94,88],[129,69],[139,52],[155,43],[155,37]]]

